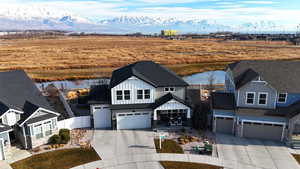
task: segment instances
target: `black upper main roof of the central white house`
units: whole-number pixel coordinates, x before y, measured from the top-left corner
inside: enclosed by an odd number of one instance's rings
[[[110,88],[117,86],[132,76],[154,87],[188,86],[183,79],[164,66],[153,61],[140,61],[115,70],[110,81]]]

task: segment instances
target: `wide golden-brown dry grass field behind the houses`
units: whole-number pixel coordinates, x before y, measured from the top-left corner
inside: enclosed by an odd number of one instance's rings
[[[109,77],[138,60],[189,75],[244,59],[300,59],[300,48],[286,42],[96,36],[0,41],[0,71],[24,69],[36,81]]]

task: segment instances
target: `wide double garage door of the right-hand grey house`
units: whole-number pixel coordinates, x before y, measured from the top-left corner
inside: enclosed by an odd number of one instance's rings
[[[244,122],[243,136],[247,138],[257,138],[280,141],[282,137],[283,125],[250,123]]]

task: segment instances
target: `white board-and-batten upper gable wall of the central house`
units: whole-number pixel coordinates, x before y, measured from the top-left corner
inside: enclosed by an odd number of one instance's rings
[[[150,99],[137,99],[137,90],[150,90]],[[117,90],[130,90],[130,100],[117,100]],[[155,88],[135,76],[128,78],[111,89],[112,104],[142,104],[154,103]],[[124,94],[124,93],[123,93]]]

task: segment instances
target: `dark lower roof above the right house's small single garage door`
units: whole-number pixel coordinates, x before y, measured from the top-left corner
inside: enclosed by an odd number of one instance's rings
[[[211,96],[213,109],[235,109],[235,99],[233,93],[213,92]]]

